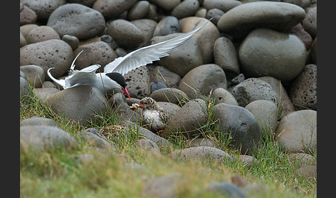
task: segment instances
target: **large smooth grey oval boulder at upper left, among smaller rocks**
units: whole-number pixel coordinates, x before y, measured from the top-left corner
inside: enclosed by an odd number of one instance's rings
[[[97,10],[79,3],[59,6],[49,17],[47,26],[59,34],[73,35],[78,39],[88,39],[102,34],[105,19]]]

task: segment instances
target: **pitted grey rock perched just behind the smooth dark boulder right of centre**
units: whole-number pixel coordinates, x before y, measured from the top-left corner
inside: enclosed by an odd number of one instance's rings
[[[244,80],[237,84],[231,93],[241,107],[245,107],[254,100],[271,100],[276,104],[280,101],[279,95],[270,84],[258,78]]]

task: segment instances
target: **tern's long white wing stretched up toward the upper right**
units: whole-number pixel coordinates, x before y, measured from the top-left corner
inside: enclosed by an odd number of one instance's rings
[[[139,48],[138,50],[133,51],[124,57],[118,57],[113,62],[110,62],[104,66],[104,72],[118,72],[124,75],[132,69],[136,69],[140,66],[151,64],[153,61],[160,60],[160,57],[169,55],[168,53],[175,51],[178,46],[184,44],[187,39],[194,35],[194,33],[197,33],[198,30],[203,28],[207,22],[205,22],[202,26],[190,31],[189,33],[185,33],[165,42]]]

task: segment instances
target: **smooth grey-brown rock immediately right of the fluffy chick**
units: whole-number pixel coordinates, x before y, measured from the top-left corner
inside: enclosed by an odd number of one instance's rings
[[[207,105],[202,99],[194,99],[187,102],[178,110],[173,118],[163,129],[163,136],[171,134],[183,135],[187,138],[194,138],[200,135],[200,127],[207,123]]]

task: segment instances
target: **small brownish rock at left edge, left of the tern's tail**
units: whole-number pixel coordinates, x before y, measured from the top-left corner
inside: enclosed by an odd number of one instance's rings
[[[24,72],[26,80],[32,87],[41,88],[44,83],[45,74],[41,66],[24,65],[20,66],[20,71]]]

